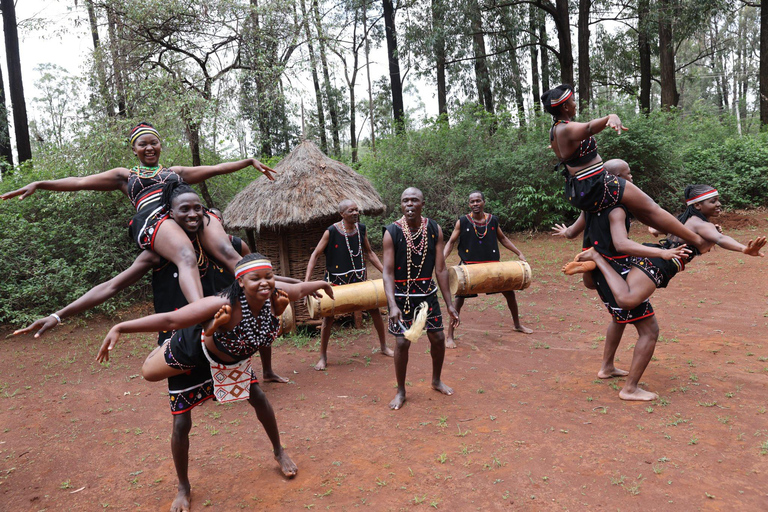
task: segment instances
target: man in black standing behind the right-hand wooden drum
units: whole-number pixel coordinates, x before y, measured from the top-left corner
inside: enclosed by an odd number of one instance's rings
[[[517,257],[521,261],[526,261],[523,253],[520,249],[515,247],[515,244],[507,238],[499,227],[499,218],[490,213],[485,213],[485,196],[479,190],[475,190],[469,194],[469,209],[470,213],[462,215],[459,220],[456,221],[456,226],[453,228],[451,238],[445,244],[443,255],[448,259],[448,255],[451,254],[453,246],[458,240],[459,244],[459,258],[461,259],[461,265],[472,265],[473,263],[488,263],[492,261],[499,261],[501,255],[499,254],[499,242],[501,245],[517,254]],[[515,323],[515,330],[525,334],[531,334],[533,331],[527,327],[524,327],[520,323],[520,317],[517,313],[517,300],[515,299],[515,292],[506,291],[501,292],[504,298],[507,299],[507,306],[512,313],[512,321]],[[461,311],[461,307],[464,305],[464,299],[469,297],[477,297],[477,295],[463,295],[456,296],[454,304],[456,310]],[[445,338],[446,348],[456,348],[456,342],[453,340],[453,326],[448,326],[448,335]]]

